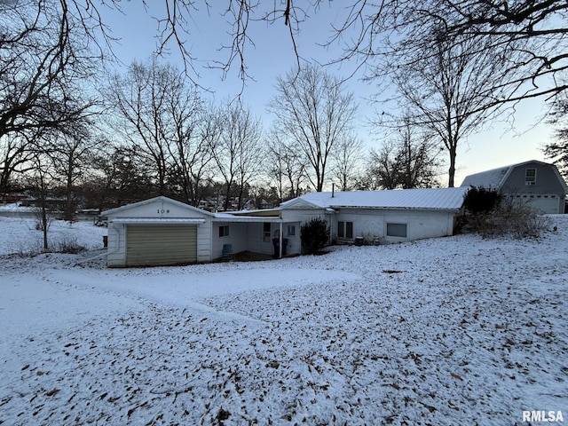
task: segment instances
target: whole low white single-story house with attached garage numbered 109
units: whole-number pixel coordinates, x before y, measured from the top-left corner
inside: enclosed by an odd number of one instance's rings
[[[108,266],[211,262],[244,251],[302,252],[301,226],[326,220],[336,242],[402,242],[454,232],[467,187],[308,193],[275,209],[211,213],[156,197],[102,213]]]

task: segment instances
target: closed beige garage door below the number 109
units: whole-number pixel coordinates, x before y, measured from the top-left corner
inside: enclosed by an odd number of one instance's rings
[[[127,266],[189,264],[196,261],[196,225],[126,227]]]

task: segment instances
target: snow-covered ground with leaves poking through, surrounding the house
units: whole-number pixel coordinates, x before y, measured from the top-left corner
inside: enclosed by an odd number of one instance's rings
[[[0,424],[568,421],[568,215],[270,262],[106,269],[0,217]],[[534,423],[533,423],[534,424]]]

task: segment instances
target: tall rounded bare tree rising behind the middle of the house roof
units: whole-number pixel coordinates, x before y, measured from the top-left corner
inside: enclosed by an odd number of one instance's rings
[[[269,106],[275,128],[304,155],[308,178],[320,192],[335,144],[351,132],[357,109],[353,95],[339,78],[313,64],[279,77],[276,90]]]

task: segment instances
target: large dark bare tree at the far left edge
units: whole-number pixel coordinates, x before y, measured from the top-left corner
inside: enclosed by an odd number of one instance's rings
[[[57,2],[0,4],[0,191],[33,168],[37,134],[66,132],[93,114],[96,102],[83,89],[96,60],[82,42]]]

